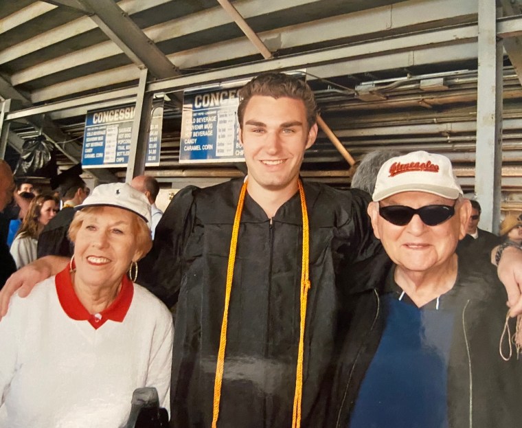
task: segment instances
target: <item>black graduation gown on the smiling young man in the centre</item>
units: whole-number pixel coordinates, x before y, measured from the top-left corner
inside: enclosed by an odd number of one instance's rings
[[[156,229],[139,280],[168,306],[176,300],[172,365],[174,427],[210,427],[225,300],[227,260],[242,180],[186,188]],[[340,264],[371,257],[380,245],[367,195],[305,183],[310,282],[304,343],[303,426],[326,376],[339,330]],[[270,220],[247,194],[229,306],[218,427],[290,427],[302,260],[299,194]],[[372,266],[372,274],[378,269]],[[368,269],[365,269],[368,271]],[[360,280],[354,273],[354,281]],[[350,286],[343,284],[343,286]]]

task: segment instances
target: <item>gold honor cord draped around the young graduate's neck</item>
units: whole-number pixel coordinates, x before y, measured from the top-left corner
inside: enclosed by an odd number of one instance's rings
[[[297,353],[297,370],[295,374],[295,395],[292,416],[292,428],[301,426],[301,403],[303,394],[303,357],[304,357],[304,327],[306,320],[306,302],[308,298],[308,289],[310,289],[310,280],[308,275],[309,267],[309,229],[308,229],[308,211],[306,210],[306,199],[301,180],[297,182],[299,187],[299,197],[301,199],[301,211],[303,216],[303,255],[302,255],[302,272],[301,272],[301,324],[299,331],[299,350]],[[219,339],[218,361],[216,363],[216,379],[214,381],[214,407],[212,409],[212,428],[217,428],[219,418],[219,404],[221,400],[221,385],[223,383],[223,366],[225,365],[225,347],[227,346],[227,322],[228,309],[230,302],[230,291],[232,288],[232,279],[234,278],[234,262],[236,261],[236,248],[238,246],[239,223],[241,220],[241,212],[245,203],[245,194],[247,193],[247,182],[243,183],[239,194],[238,207],[236,208],[236,216],[234,217],[234,227],[232,227],[232,237],[230,240],[229,261],[227,267],[227,286],[225,289],[225,308],[223,309],[223,322],[221,324],[221,335]]]

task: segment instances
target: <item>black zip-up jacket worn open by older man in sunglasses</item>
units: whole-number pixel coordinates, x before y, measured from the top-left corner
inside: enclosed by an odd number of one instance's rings
[[[383,333],[380,296],[400,294],[392,278],[393,269],[381,289],[363,285],[350,290],[350,303],[344,311],[348,328],[311,426],[350,426],[350,412]],[[440,307],[455,313],[447,386],[450,428],[509,428],[522,423],[522,361],[515,355],[504,361],[499,354],[506,300],[492,265],[459,259],[455,285],[440,297]],[[503,352],[508,354],[506,340]],[[408,427],[405,414],[403,428]]]

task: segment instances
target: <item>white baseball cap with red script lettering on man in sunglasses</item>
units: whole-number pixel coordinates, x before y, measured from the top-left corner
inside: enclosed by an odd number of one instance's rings
[[[422,150],[387,160],[377,174],[372,198],[382,201],[401,192],[427,192],[447,199],[462,195],[451,161]]]

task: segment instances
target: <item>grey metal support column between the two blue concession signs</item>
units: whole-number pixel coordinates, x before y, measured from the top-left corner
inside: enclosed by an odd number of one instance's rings
[[[150,131],[150,112],[152,111],[152,98],[154,97],[153,93],[145,93],[148,76],[148,69],[141,69],[134,112],[131,148],[128,153],[128,164],[125,174],[126,183],[131,183],[134,177],[143,174],[145,171],[145,157]]]

